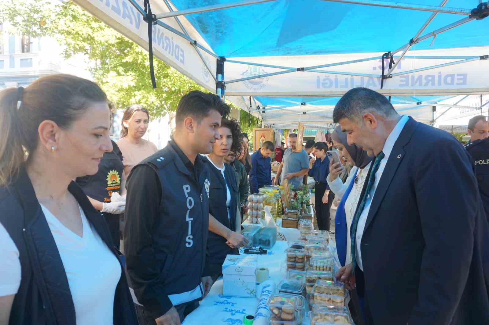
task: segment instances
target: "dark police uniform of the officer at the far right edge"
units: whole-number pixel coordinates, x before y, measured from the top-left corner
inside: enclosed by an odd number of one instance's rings
[[[479,192],[489,220],[489,138],[469,142],[464,147],[474,162]]]

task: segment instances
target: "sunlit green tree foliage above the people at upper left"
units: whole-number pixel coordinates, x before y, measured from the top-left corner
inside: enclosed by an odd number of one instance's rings
[[[0,21],[10,22],[9,33],[54,37],[64,44],[65,58],[84,55],[93,79],[117,107],[141,103],[156,118],[175,111],[187,92],[206,91],[156,58],[153,89],[148,52],[71,1],[1,1]]]

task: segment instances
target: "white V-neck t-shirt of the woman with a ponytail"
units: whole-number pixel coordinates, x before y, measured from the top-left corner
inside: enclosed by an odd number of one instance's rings
[[[81,207],[82,237],[69,230],[42,204],[41,208],[65,268],[76,324],[113,325],[115,288],[121,276],[117,257],[89,223]],[[0,296],[15,294],[21,283],[19,251],[3,226],[0,227],[0,243],[0,261],[2,265],[7,263],[7,267],[0,267]]]

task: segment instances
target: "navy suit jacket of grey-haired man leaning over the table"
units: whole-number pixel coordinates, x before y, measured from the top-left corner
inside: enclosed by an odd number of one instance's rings
[[[488,241],[470,156],[449,133],[410,118],[361,241],[375,324],[489,324]]]

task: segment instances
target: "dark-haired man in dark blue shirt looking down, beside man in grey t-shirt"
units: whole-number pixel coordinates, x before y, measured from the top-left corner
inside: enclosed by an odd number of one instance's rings
[[[251,155],[251,171],[249,172],[250,193],[258,193],[260,187],[271,185],[272,167],[270,156],[275,151],[273,142],[262,144],[260,150]]]

